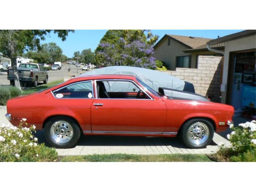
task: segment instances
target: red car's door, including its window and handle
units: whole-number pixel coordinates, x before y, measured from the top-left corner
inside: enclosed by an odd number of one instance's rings
[[[166,106],[136,82],[97,80],[94,88],[97,96],[91,108],[92,132],[162,134]]]

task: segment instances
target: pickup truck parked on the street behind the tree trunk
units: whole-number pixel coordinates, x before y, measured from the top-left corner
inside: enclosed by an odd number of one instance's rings
[[[32,83],[33,86],[36,87],[40,81],[44,82],[44,84],[47,84],[48,82],[48,72],[41,64],[21,63],[17,70],[21,83]],[[11,85],[14,85],[14,74],[12,69],[8,70],[7,79],[10,80]]]

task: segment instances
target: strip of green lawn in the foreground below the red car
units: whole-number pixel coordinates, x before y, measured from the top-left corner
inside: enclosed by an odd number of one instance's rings
[[[212,162],[205,154],[94,154],[65,156],[60,162]]]

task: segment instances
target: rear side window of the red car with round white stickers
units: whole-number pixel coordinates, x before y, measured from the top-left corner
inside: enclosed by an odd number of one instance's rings
[[[94,98],[92,82],[78,82],[53,91],[56,98]]]

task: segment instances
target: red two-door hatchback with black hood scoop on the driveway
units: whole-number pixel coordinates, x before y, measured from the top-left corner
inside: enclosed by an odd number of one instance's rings
[[[10,99],[6,118],[15,126],[26,118],[29,125],[45,129],[46,140],[56,148],[74,146],[80,134],[179,134],[189,148],[204,148],[214,131],[232,124],[233,114],[232,106],[188,92],[166,88],[156,92],[134,76],[96,75]]]

